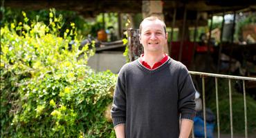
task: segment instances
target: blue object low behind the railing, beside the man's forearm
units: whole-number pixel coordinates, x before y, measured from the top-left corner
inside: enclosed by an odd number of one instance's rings
[[[194,136],[204,137],[203,119],[201,117],[194,117]],[[206,122],[206,135],[208,138],[213,138],[214,123]]]

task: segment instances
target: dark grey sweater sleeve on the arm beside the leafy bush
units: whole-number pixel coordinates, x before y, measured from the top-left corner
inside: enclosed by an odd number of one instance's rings
[[[111,108],[111,117],[113,126],[118,124],[125,124],[126,121],[126,95],[123,72],[118,75],[118,81],[113,95],[113,105]]]

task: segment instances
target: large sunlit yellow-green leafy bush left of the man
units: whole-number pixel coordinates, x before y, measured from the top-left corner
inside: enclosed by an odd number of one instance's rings
[[[63,29],[55,10],[48,25],[22,14],[1,28],[1,137],[114,137],[104,112],[116,75],[86,65],[94,50],[78,50],[75,23]]]

